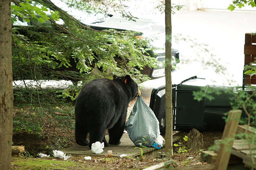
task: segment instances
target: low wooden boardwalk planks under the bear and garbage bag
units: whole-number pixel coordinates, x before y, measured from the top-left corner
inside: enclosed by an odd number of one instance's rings
[[[106,135],[106,140],[108,141],[109,136]],[[173,142],[176,142],[177,140],[180,140],[181,137],[179,136],[173,136]],[[164,152],[165,149],[165,143],[163,143],[163,147],[161,149],[155,149],[154,147],[136,147],[133,142],[130,140],[128,134],[123,134],[121,138],[121,144],[119,145],[110,145],[109,147],[103,148],[103,152],[101,154],[94,154],[89,146],[71,146],[68,148],[65,148],[61,151],[71,154],[71,155],[89,155],[89,156],[95,156],[95,155],[108,155],[108,150],[112,150],[113,157],[119,157],[121,154],[127,154],[127,157],[136,157],[141,154],[141,149],[143,150],[143,155],[145,158],[148,157],[158,157],[162,155],[162,152]]]

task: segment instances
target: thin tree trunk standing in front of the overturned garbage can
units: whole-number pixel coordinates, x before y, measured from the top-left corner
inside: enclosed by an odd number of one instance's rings
[[[172,5],[165,0],[165,123],[166,151],[173,155],[173,114],[172,114]]]

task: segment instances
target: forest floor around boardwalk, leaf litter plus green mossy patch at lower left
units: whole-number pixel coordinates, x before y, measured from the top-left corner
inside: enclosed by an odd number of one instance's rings
[[[150,97],[144,97],[145,103],[149,104]],[[128,108],[128,113],[131,112],[136,99],[131,101]],[[54,125],[52,125],[54,126]],[[130,170],[130,169],[144,169],[153,165],[157,165],[162,162],[171,161],[171,166],[182,167],[182,166],[195,166],[195,165],[206,165],[205,162],[200,162],[200,151],[187,153],[186,141],[183,139],[176,143],[180,146],[173,146],[174,155],[170,156],[166,153],[158,158],[144,159],[138,158],[117,158],[107,156],[93,156],[91,160],[86,161],[84,156],[86,155],[72,155],[68,161],[58,159],[55,157],[49,158],[36,158],[37,153],[46,153],[49,149],[56,149],[56,143],[60,143],[59,149],[69,147],[75,144],[74,141],[74,130],[64,130],[61,128],[50,128],[43,127],[44,138],[38,138],[35,134],[26,132],[15,132],[13,134],[14,145],[25,146],[26,152],[17,156],[12,157],[12,169],[99,169],[99,170]],[[187,136],[189,132],[185,131],[173,131],[173,135],[181,137]],[[203,150],[208,150],[209,147],[214,145],[214,141],[222,138],[222,132],[220,131],[204,131],[201,132],[203,135],[204,147]],[[59,136],[59,137],[58,137]],[[60,137],[61,136],[61,137]],[[61,140],[61,141],[60,141]],[[65,140],[65,142],[63,142]],[[54,143],[55,142],[55,143]],[[55,147],[49,146],[50,143],[54,143]],[[63,144],[64,143],[64,144]],[[180,150],[180,151],[179,151]]]

